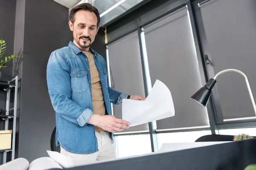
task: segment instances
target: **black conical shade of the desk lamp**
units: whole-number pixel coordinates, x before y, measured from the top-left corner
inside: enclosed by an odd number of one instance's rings
[[[215,79],[210,79],[206,85],[202,88],[200,88],[192,97],[195,102],[198,102],[199,104],[206,106],[209,98],[212,94],[212,88],[214,87],[216,83]]]

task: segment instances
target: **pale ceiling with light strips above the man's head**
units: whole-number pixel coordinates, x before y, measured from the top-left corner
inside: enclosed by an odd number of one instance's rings
[[[143,0],[54,0],[71,9],[81,3],[90,3],[99,10],[101,16],[100,26],[105,26],[111,20],[125,13],[128,9],[141,3]]]

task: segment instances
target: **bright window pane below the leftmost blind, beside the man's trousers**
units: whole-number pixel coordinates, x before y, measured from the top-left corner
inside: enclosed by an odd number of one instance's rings
[[[151,153],[149,134],[115,136],[115,139],[118,158]]]

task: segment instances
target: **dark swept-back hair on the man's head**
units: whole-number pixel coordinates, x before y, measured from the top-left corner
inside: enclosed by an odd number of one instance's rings
[[[75,14],[77,11],[80,11],[80,10],[94,12],[94,14],[96,14],[96,17],[97,17],[97,27],[99,27],[99,23],[100,23],[99,11],[97,8],[92,6],[90,3],[82,3],[82,4],[75,6],[74,8],[71,9],[70,16],[69,16],[69,20],[71,21],[71,23],[75,22]]]

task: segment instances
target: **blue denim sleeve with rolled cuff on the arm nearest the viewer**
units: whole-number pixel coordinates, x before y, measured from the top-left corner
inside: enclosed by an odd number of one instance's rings
[[[71,100],[70,67],[58,51],[52,52],[49,57],[47,86],[53,109],[57,113],[81,127],[87,125],[93,111]]]

